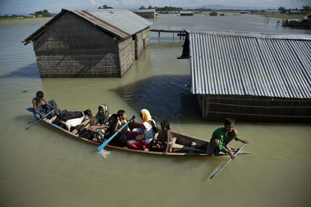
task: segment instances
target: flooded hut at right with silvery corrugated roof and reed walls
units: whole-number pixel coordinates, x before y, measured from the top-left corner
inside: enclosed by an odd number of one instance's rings
[[[311,122],[311,35],[185,31],[204,120]]]

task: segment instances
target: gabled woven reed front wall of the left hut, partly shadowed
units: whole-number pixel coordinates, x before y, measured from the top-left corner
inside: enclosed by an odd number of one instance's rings
[[[46,77],[120,77],[118,44],[81,18],[65,13],[34,43]]]

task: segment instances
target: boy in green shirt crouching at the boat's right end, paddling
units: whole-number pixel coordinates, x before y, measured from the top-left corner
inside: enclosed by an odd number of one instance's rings
[[[223,127],[217,128],[213,134],[211,141],[207,146],[207,151],[212,148],[211,154],[215,155],[220,152],[225,154],[229,153],[232,160],[234,160],[235,155],[232,152],[232,149],[227,146],[229,142],[233,139],[235,141],[240,141],[242,143],[249,143],[248,140],[242,140],[238,137],[238,131],[234,129],[234,120],[231,118],[225,119],[225,124]]]

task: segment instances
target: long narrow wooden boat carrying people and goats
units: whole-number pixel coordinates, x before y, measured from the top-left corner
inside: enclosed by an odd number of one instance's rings
[[[27,107],[26,107],[27,109]],[[56,119],[56,116],[52,117],[52,118],[45,118],[42,119],[43,121],[45,121],[46,123],[60,129],[61,131],[70,134],[73,137],[76,137],[78,139],[81,139],[83,141],[86,142],[90,142],[92,144],[96,144],[96,145],[100,145],[101,142],[96,142],[93,140],[88,140],[86,138],[83,137],[79,137],[79,135],[77,135],[77,130],[74,129],[71,132],[67,131],[66,129],[63,129],[62,127],[59,127],[56,124],[53,124],[53,120]],[[83,124],[83,128],[89,129],[92,125],[94,125],[94,120],[95,120],[95,116],[93,115],[91,117],[91,119],[87,119],[84,122],[82,122],[81,124]],[[134,124],[129,125],[130,129],[133,128],[140,128],[141,127],[141,123],[137,123],[135,122]],[[158,127],[157,127],[158,128]],[[159,133],[161,132],[161,129],[158,128]],[[204,139],[199,139],[197,137],[192,137],[190,135],[186,135],[186,134],[182,134],[182,133],[178,133],[178,132],[174,132],[171,131],[172,136],[173,136],[173,151],[171,153],[167,153],[167,155],[179,155],[179,156],[212,156],[210,153],[207,153],[206,149],[207,149],[207,144],[208,144],[208,140],[204,140]],[[156,147],[151,147],[149,150],[146,149],[145,151],[142,150],[134,150],[134,149],[130,149],[128,147],[120,147],[120,146],[114,146],[114,145],[106,145],[106,147],[109,148],[114,148],[114,149],[118,149],[118,150],[124,150],[124,151],[131,151],[131,152],[140,152],[140,153],[146,153],[146,154],[155,154],[155,155],[163,155],[162,151],[159,150]],[[233,152],[235,152],[238,148],[230,146],[230,148],[233,150]],[[248,154],[248,153],[252,153],[250,151],[247,150],[240,150],[238,154]],[[220,152],[220,154],[217,154],[215,156],[223,156],[223,155],[229,155],[229,154],[224,154],[222,152]]]

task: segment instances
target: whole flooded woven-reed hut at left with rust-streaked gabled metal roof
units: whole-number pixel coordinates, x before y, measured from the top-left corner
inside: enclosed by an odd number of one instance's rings
[[[65,8],[23,42],[41,78],[122,77],[149,45],[150,25],[128,10]]]

